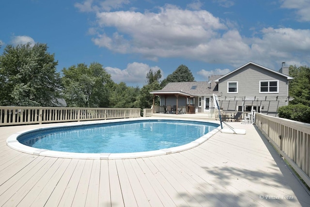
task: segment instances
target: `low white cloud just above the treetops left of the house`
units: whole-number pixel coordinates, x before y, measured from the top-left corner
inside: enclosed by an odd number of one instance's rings
[[[148,64],[143,63],[131,63],[128,64],[125,69],[105,67],[106,71],[111,75],[111,79],[114,82],[126,82],[126,83],[135,83],[138,85],[145,85],[146,83],[146,74],[150,69],[154,72],[160,70],[159,67],[151,67]],[[162,73],[162,71],[161,71]]]

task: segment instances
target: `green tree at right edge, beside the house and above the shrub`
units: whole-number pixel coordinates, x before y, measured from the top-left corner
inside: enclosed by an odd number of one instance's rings
[[[290,104],[310,106],[310,68],[291,65],[289,75],[294,78],[289,83],[289,96],[294,97]]]

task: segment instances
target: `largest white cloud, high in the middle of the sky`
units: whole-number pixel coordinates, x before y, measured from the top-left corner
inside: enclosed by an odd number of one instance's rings
[[[123,53],[140,53],[149,59],[186,57],[188,48],[207,43],[218,30],[227,29],[207,11],[181,10],[172,5],[158,13],[102,12],[97,13],[97,20],[99,27],[113,27],[118,32],[99,34],[93,38],[96,45],[120,52],[122,44]]]

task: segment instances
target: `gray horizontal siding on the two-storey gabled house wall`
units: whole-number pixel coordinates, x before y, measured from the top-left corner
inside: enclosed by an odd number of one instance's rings
[[[278,92],[260,93],[260,81],[278,81]],[[237,82],[237,93],[228,93],[228,82]],[[224,111],[238,111],[244,99],[244,111],[248,111],[246,106],[258,106],[262,113],[276,115],[280,106],[288,104],[287,82],[285,76],[248,64],[218,82],[218,91],[222,92],[220,107]]]

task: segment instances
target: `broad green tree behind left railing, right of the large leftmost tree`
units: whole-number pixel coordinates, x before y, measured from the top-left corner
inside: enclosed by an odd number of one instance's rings
[[[69,107],[109,107],[111,76],[99,63],[62,69],[63,97]]]

